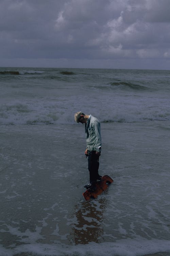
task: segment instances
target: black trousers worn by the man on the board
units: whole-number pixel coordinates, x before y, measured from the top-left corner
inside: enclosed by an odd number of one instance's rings
[[[90,173],[90,183],[97,181],[99,177],[99,156],[96,151],[88,151],[88,170]]]

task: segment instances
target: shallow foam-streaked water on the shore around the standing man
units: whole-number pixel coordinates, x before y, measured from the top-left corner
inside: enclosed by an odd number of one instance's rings
[[[1,126],[1,255],[170,251],[169,122],[101,126],[114,183],[87,202],[82,125]]]

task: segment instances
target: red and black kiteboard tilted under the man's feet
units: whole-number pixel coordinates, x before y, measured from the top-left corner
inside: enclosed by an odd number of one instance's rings
[[[108,188],[108,185],[113,182],[112,178],[108,175],[104,175],[101,177],[101,181],[96,182],[96,189],[94,191],[92,190],[86,190],[83,193],[84,198],[87,200],[90,200],[91,198],[97,198],[98,195],[102,194],[104,190]]]

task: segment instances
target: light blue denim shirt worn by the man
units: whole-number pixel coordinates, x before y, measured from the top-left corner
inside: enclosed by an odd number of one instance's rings
[[[87,124],[85,125],[87,150],[89,151],[101,151],[101,133],[100,133],[100,122],[99,120],[89,115]]]

